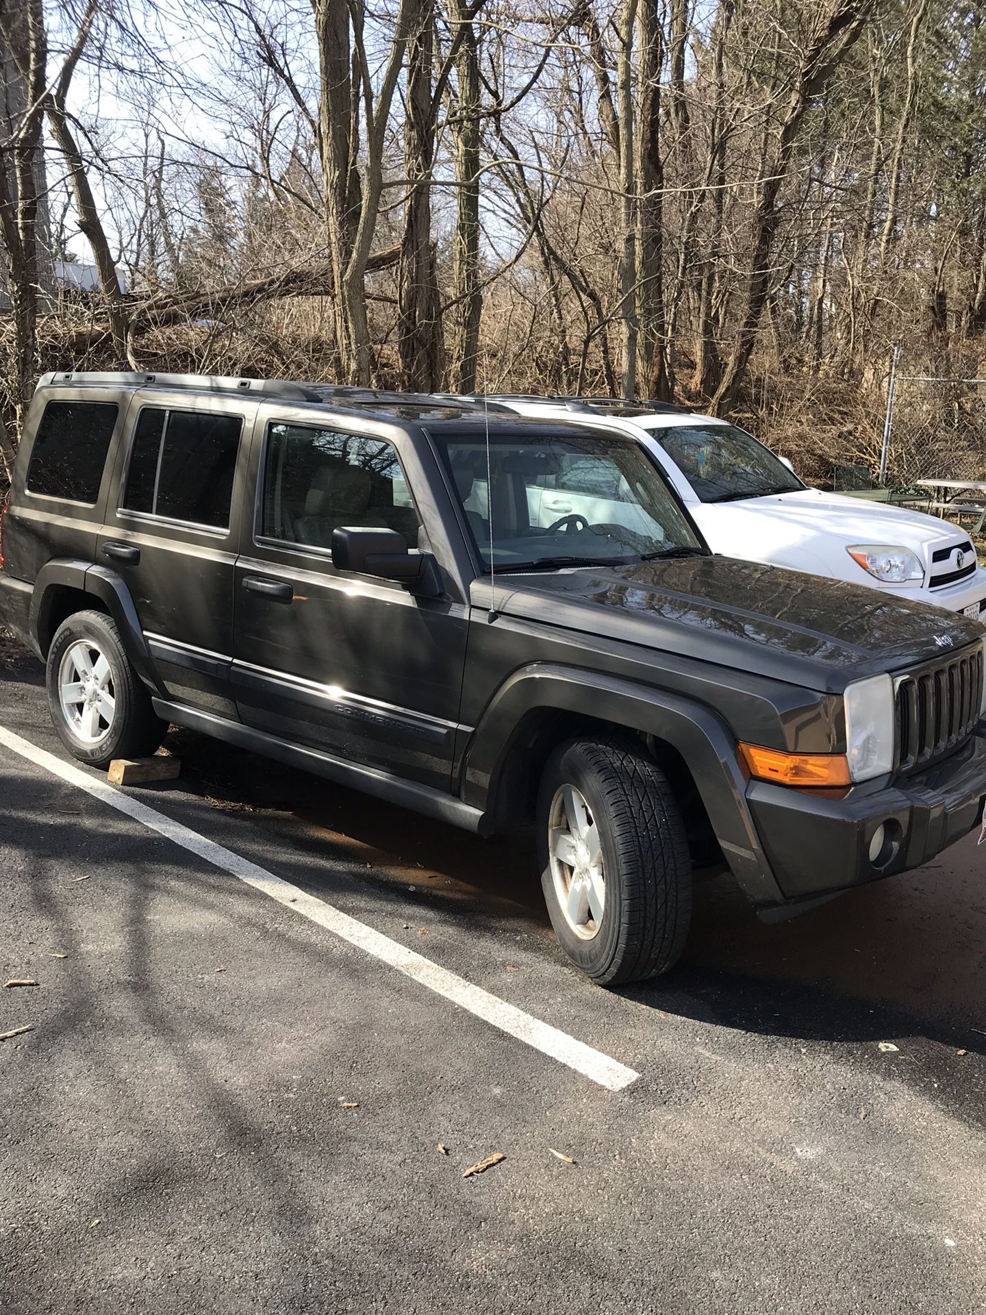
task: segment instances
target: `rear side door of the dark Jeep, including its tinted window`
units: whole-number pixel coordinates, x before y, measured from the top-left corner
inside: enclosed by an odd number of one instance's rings
[[[168,696],[235,715],[233,577],[256,402],[143,392],[128,412],[96,560],[122,576]]]

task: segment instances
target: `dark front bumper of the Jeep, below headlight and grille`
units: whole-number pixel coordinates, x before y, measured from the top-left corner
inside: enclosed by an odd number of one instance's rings
[[[957,752],[899,781],[868,781],[843,798],[751,781],[747,803],[786,899],[833,894],[919,868],[975,827],[986,806],[986,722]],[[869,857],[877,828],[889,847]]]

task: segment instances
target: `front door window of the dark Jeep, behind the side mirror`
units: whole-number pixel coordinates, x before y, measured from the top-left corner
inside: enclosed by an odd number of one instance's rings
[[[397,530],[417,548],[421,521],[394,447],[333,429],[268,426],[263,538],[329,550],[343,526]]]

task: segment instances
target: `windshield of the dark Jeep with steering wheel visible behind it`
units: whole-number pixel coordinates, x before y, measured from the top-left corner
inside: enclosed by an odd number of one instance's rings
[[[484,565],[497,571],[640,562],[705,552],[653,462],[634,439],[433,435]]]

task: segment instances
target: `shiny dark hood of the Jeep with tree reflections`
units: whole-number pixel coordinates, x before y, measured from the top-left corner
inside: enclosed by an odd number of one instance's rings
[[[472,601],[489,606],[489,581]],[[972,643],[978,622],[720,556],[497,575],[497,611],[840,693]]]

